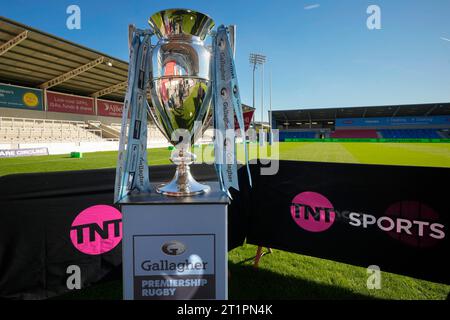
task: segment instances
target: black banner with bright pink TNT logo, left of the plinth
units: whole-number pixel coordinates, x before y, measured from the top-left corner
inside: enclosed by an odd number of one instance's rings
[[[174,172],[175,166],[151,167],[151,181],[168,181]],[[216,179],[213,166],[194,165],[192,172],[199,181]],[[121,279],[114,178],[115,169],[0,177],[0,298],[66,293],[77,267],[81,288]],[[230,213],[229,219],[231,250],[242,245],[245,228],[233,227],[242,216]]]

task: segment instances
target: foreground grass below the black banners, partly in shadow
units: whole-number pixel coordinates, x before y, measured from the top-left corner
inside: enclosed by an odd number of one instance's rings
[[[245,299],[446,299],[450,286],[382,272],[382,288],[366,287],[365,268],[273,250],[253,267],[256,246],[244,245],[228,255],[229,298]],[[116,300],[121,281],[102,283],[72,292],[61,300]]]

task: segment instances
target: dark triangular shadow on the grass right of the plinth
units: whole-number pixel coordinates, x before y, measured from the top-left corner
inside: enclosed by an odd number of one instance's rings
[[[229,262],[229,297],[230,299],[351,299],[361,300],[373,297],[361,295],[342,287],[321,284],[301,278],[255,269],[241,263]]]

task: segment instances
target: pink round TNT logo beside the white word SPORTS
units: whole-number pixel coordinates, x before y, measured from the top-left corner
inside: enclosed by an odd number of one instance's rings
[[[334,223],[336,213],[331,202],[316,192],[302,192],[291,204],[291,215],[295,223],[310,232],[322,232]]]

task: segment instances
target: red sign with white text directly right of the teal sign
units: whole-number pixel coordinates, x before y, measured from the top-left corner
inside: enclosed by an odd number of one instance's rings
[[[47,111],[95,114],[94,99],[47,91]]]

